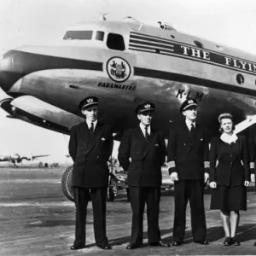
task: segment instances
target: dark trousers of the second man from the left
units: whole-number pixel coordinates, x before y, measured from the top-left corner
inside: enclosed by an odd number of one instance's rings
[[[131,244],[143,244],[143,212],[145,204],[147,204],[148,242],[160,241],[160,187],[129,186],[129,189],[132,210]]]

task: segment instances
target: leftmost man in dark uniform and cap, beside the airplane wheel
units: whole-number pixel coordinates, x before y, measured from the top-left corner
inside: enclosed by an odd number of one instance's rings
[[[87,205],[92,201],[96,246],[108,250],[106,236],[106,198],[108,189],[108,159],[112,154],[113,137],[108,125],[97,120],[98,99],[86,97],[80,103],[86,121],[73,126],[69,154],[73,165],[73,195],[76,206],[75,241],[71,250],[85,247]]]

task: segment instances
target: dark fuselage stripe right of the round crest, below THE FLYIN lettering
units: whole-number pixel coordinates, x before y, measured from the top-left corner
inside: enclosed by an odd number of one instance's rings
[[[183,75],[180,73],[171,73],[148,68],[134,67],[134,75],[144,78],[166,79],[180,83],[196,84],[217,90],[228,90],[232,92],[245,94],[248,96],[256,96],[256,90],[247,89],[244,87],[230,84],[219,83],[208,79],[200,79],[188,75]]]

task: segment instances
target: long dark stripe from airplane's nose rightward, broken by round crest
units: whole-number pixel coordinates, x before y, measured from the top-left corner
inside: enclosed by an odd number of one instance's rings
[[[22,78],[26,74],[47,70],[47,69],[84,69],[84,70],[94,70],[103,71],[103,63],[96,61],[82,61],[76,59],[62,58],[58,56],[49,55],[38,55],[27,52],[20,51],[9,51],[9,55],[14,55],[15,57],[15,71],[19,73],[19,78]],[[18,58],[16,59],[16,57]],[[5,55],[6,57],[6,55]],[[25,60],[25,61],[24,61]],[[19,72],[18,72],[19,71]],[[20,72],[21,71],[21,72]],[[10,77],[12,73],[9,73]],[[232,92],[237,92],[241,94],[246,94],[248,96],[256,96],[256,91],[253,89],[247,89],[237,85],[224,84],[216,81],[196,78],[189,75],[183,75],[180,73],[164,72],[154,69],[148,69],[143,67],[134,67],[134,76],[152,78],[152,79],[166,79],[177,81],[181,83],[188,84],[198,84],[218,90],[229,90]],[[18,80],[17,76],[16,79]],[[0,76],[1,80],[1,76]],[[14,83],[13,83],[14,84]],[[2,86],[2,85],[1,85]],[[10,87],[12,84],[10,84]]]

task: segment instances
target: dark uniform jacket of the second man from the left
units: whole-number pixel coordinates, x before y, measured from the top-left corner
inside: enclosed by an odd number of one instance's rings
[[[160,131],[151,128],[148,142],[140,126],[124,132],[119,146],[119,163],[128,171],[127,180],[130,186],[160,186],[161,166],[165,159],[166,144]]]

